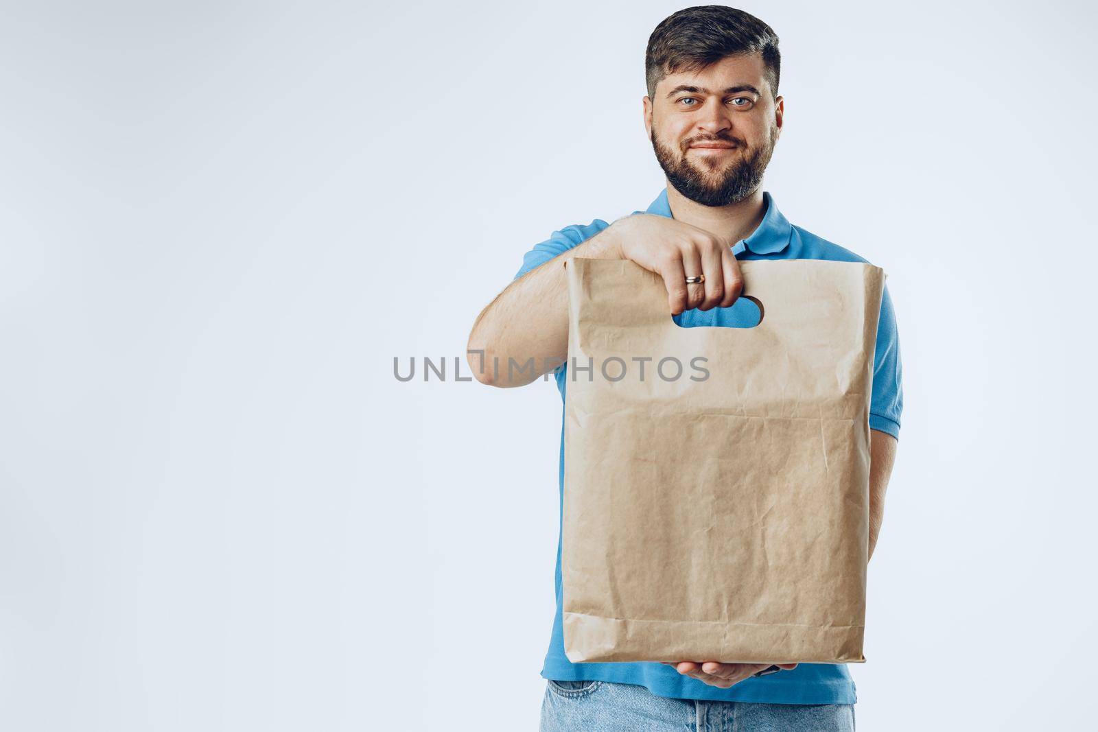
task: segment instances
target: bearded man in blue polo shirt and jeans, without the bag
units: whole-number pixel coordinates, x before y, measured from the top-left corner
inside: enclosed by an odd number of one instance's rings
[[[646,53],[645,128],[666,187],[643,212],[571,225],[526,252],[515,281],[478,317],[469,338],[478,379],[520,386],[568,354],[572,257],[630,259],[663,279],[681,326],[752,325],[737,259],[858,255],[789,224],[762,178],[782,132],[781,56],[769,25],[722,5],[688,8],[653,31]],[[547,262],[551,262],[547,264]],[[701,277],[701,275],[704,275]],[[754,311],[758,318],[758,311]],[[535,369],[506,365],[513,359]],[[493,364],[502,364],[493,368]],[[562,398],[567,367],[556,372]],[[881,529],[903,409],[899,344],[885,289],[871,397],[870,547]],[[562,435],[563,439],[563,435]],[[560,489],[563,499],[563,442]],[[843,664],[580,663],[564,655],[560,544],[557,615],[541,675],[542,730],[853,729],[855,687]],[[760,675],[768,672],[766,675]]]

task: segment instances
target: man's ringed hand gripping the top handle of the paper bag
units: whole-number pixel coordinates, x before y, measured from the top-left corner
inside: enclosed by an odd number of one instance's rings
[[[601,232],[614,254],[663,278],[672,315],[698,308],[730,307],[743,291],[735,241],[681,221],[656,214],[618,218]],[[702,283],[686,277],[705,275]]]

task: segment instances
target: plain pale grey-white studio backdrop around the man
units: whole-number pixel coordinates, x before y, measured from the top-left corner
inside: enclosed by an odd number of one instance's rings
[[[392,359],[656,198],[681,7],[3,3],[0,728],[536,729],[559,396]],[[1089,728],[1094,8],[744,8],[898,316],[859,728]]]

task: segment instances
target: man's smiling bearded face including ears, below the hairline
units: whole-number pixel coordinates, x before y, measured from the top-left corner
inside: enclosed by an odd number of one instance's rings
[[[671,74],[645,97],[645,127],[670,183],[691,201],[722,206],[762,184],[782,129],[784,102],[761,54],[729,56],[698,72]]]

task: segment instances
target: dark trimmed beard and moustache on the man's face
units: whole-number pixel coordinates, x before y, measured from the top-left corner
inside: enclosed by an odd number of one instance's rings
[[[690,142],[699,143],[705,139],[698,137]],[[744,140],[736,137],[722,136],[717,139],[732,143],[739,149],[747,146]],[[771,126],[766,143],[762,147],[753,151],[748,150],[746,158],[731,164],[725,160],[727,154],[715,156],[715,165],[710,167],[709,161],[699,159],[702,156],[691,160],[681,150],[661,144],[656,127],[652,127],[652,149],[656,150],[656,159],[660,161],[668,181],[684,196],[704,206],[738,203],[754,193],[762,184],[762,176],[770,165],[770,156],[774,153],[776,142],[777,127]],[[714,173],[720,170],[721,166],[726,168],[725,171],[718,173],[719,178],[714,180]]]

